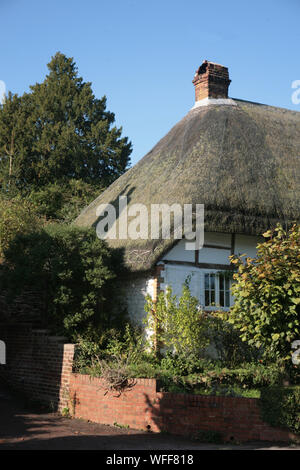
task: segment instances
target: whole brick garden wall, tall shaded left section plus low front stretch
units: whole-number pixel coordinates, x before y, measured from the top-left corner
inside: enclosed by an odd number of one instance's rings
[[[72,373],[74,345],[63,338],[31,325],[0,324],[0,339],[7,361],[0,365],[0,378],[54,409],[69,408],[76,418],[195,437],[218,431],[227,441],[294,438],[261,420],[257,399],[158,392],[155,379],[137,379],[121,394],[107,392],[101,379]]]

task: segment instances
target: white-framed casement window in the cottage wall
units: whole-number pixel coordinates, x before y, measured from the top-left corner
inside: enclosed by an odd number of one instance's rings
[[[230,278],[223,273],[204,274],[205,307],[230,307]]]

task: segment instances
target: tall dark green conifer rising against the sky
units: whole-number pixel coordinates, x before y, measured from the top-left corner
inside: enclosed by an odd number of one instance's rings
[[[43,83],[0,107],[0,184],[39,190],[71,179],[110,184],[128,167],[131,143],[114,126],[72,58],[57,53]]]

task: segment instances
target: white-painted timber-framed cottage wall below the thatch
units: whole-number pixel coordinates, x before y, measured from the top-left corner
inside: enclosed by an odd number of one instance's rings
[[[182,285],[190,276],[192,295],[199,299],[201,305],[205,305],[205,274],[217,273],[222,270],[222,266],[224,266],[224,269],[228,269],[230,265],[229,256],[232,252],[237,255],[247,254],[254,257],[257,243],[261,240],[262,238],[257,236],[236,234],[234,245],[232,245],[231,234],[206,232],[204,246],[199,250],[199,266],[194,264],[195,252],[186,250],[185,240],[180,240],[158,263],[164,265],[164,270],[160,273],[162,282],[159,288],[165,290],[166,286],[170,285],[173,293],[180,296]],[[152,298],[156,296],[156,282],[154,276],[144,275],[123,283],[128,314],[131,321],[136,325],[143,325],[143,319],[146,315],[144,310],[145,298],[147,294],[150,294]],[[230,304],[232,305],[232,303],[233,298],[230,296]]]

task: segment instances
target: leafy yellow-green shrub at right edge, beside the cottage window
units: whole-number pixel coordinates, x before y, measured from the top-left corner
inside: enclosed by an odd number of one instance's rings
[[[278,225],[264,237],[256,258],[232,257],[238,272],[229,322],[244,341],[291,361],[292,342],[300,339],[300,226]]]

